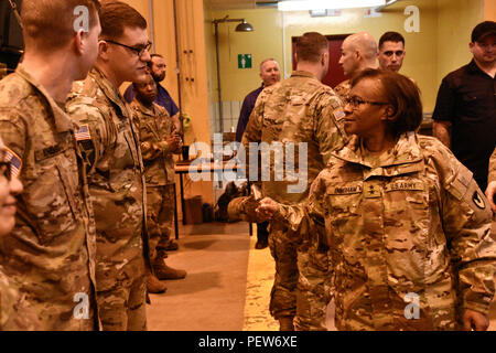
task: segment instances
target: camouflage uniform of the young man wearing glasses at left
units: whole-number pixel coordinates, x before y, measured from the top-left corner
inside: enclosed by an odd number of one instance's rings
[[[89,165],[104,330],[145,330],[145,190],[131,110],[97,68],[74,83],[67,110],[82,125],[77,139]]]

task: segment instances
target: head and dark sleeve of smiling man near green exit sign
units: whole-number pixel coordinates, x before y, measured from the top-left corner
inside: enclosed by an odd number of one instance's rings
[[[260,78],[262,79],[261,86],[250,92],[242,101],[241,113],[239,114],[238,119],[238,127],[236,129],[236,141],[238,142],[241,142],[242,133],[245,133],[246,126],[248,125],[248,119],[250,117],[251,110],[254,110],[258,95],[265,87],[272,86],[273,84],[277,84],[281,81],[281,73],[279,71],[278,62],[273,58],[266,58],[265,61],[262,61],[260,64]]]

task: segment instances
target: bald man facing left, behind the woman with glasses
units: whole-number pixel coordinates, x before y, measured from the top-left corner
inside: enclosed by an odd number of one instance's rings
[[[345,75],[353,77],[365,68],[377,67],[377,43],[367,32],[348,35],[341,46],[339,65]],[[334,92],[342,100],[348,98],[351,89],[349,79],[343,81]]]

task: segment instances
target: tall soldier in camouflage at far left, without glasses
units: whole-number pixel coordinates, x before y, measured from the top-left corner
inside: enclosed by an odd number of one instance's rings
[[[24,60],[0,82],[0,136],[11,173],[24,185],[15,227],[0,238],[0,265],[40,318],[39,329],[94,330],[95,225],[77,126],[61,107],[96,58],[98,3],[47,2],[23,1]],[[89,10],[89,32],[74,32],[79,4]],[[64,71],[54,75],[52,67]]]

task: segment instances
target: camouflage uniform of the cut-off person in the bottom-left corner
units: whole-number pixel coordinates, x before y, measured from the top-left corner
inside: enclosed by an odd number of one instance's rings
[[[37,331],[41,321],[0,266],[0,331]]]

